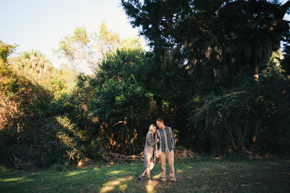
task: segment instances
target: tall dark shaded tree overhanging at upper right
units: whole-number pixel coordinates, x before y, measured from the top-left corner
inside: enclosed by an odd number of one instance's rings
[[[283,17],[290,1],[122,0],[122,6],[153,49],[160,83],[188,68],[202,87],[228,84],[244,66],[258,79],[265,55],[289,39]]]

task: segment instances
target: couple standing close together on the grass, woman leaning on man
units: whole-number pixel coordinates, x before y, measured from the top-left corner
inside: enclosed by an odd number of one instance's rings
[[[174,148],[175,137],[170,127],[164,125],[163,119],[156,121],[159,129],[156,130],[156,125],[152,124],[149,127],[149,132],[146,136],[146,144],[144,148],[144,167],[146,170],[139,176],[139,180],[143,181],[143,177],[147,174],[147,182],[152,183],[150,178],[150,170],[155,165],[155,157],[160,158],[161,165],[161,181],[166,181],[166,159],[169,167],[170,181],[175,182],[174,176]]]

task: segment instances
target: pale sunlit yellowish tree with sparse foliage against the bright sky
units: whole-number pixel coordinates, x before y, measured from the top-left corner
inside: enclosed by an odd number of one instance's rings
[[[96,69],[106,52],[119,45],[119,35],[107,29],[106,21],[100,25],[99,33],[88,33],[85,27],[77,27],[73,35],[67,35],[59,41],[59,48],[52,49],[59,59],[64,58],[73,68],[79,65]]]

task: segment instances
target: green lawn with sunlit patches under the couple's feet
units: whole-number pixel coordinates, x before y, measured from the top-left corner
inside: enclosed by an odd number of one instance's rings
[[[109,167],[108,167],[109,166]],[[166,165],[166,168],[168,166]],[[143,163],[97,163],[76,168],[54,165],[37,173],[0,168],[0,192],[289,192],[290,159],[247,160],[195,157],[175,161],[176,182],[162,183],[160,164],[152,184],[138,181]],[[169,170],[166,170],[169,174]],[[145,177],[146,179],[146,177]],[[167,176],[169,179],[169,175]]]

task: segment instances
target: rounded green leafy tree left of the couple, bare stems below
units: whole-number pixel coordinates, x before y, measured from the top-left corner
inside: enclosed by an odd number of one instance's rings
[[[74,97],[99,123],[97,135],[104,140],[106,150],[123,154],[140,148],[136,141],[142,139],[139,133],[151,102],[151,96],[130,73],[135,62],[145,57],[142,47],[132,49],[134,45],[134,41],[129,42],[126,49],[106,53],[94,75],[81,74]]]

